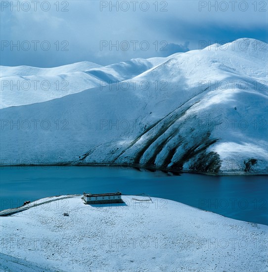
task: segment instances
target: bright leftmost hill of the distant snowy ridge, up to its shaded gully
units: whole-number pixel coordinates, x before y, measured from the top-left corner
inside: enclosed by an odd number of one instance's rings
[[[0,66],[0,108],[44,102],[97,87],[83,71],[100,65],[83,61],[54,68]]]

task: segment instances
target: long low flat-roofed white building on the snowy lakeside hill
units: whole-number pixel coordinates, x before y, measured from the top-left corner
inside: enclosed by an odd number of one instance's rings
[[[84,201],[86,204],[105,204],[105,203],[122,203],[121,193],[101,193],[91,194],[84,193]]]

